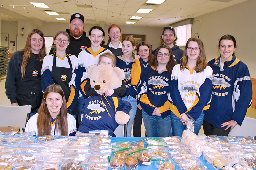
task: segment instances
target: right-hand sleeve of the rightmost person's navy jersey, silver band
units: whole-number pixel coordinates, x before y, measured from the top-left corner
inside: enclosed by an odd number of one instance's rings
[[[252,81],[247,66],[241,70],[240,75],[234,83],[232,95],[233,117],[240,126],[244,120],[247,110],[252,104]]]

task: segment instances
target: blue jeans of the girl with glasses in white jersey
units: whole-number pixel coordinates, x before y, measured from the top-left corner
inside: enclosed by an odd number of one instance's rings
[[[194,122],[195,129],[194,133],[198,135],[199,130],[203,124],[204,113],[201,112],[200,116]],[[180,117],[177,117],[174,113],[171,112],[171,123],[172,123],[172,135],[173,136],[182,136],[183,130],[186,130],[186,126],[180,122]]]

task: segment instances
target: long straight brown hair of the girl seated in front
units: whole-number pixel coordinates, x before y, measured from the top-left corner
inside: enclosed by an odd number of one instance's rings
[[[63,102],[60,108],[60,114],[56,117],[55,128],[57,134],[68,136],[67,104],[60,85],[49,85],[44,91],[44,97],[37,118],[38,135],[51,134],[51,115],[46,106],[46,97],[50,92],[59,93],[62,96]]]

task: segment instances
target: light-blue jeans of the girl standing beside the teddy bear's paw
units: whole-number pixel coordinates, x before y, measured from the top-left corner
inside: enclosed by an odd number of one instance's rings
[[[127,123],[127,135],[126,135],[127,137],[131,137],[132,124],[133,124],[133,120],[134,120],[134,117],[136,115],[136,110],[137,110],[137,99],[133,98],[132,96],[125,96],[122,99],[124,101],[128,101],[132,105],[132,108],[129,111],[130,120]]]

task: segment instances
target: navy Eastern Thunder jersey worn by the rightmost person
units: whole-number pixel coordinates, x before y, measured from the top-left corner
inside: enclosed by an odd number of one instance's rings
[[[224,62],[221,69],[220,58],[217,57],[208,63],[213,70],[213,88],[211,106],[204,112],[204,120],[218,128],[230,120],[241,125],[252,104],[249,70],[235,55],[231,61]]]

